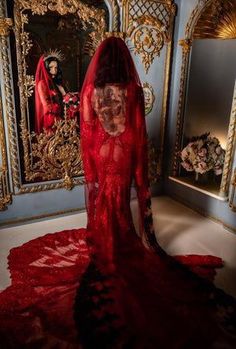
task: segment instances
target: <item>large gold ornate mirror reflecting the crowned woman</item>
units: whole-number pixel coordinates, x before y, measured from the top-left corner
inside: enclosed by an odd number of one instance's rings
[[[105,2],[93,4],[91,6],[79,0],[15,0],[7,3],[8,14],[14,21],[10,48],[18,134],[13,143],[16,139],[18,142],[12,145],[12,151],[18,153],[17,163],[14,164],[18,167],[15,177],[18,175],[20,178],[15,181],[17,187],[20,187],[20,182],[27,185],[58,179],[63,181],[45,184],[45,189],[58,186],[71,189],[75,184],[82,183],[79,91],[91,55],[108,31],[109,22]],[[54,87],[50,82],[46,89],[45,84],[42,87],[36,82],[36,72],[39,71],[40,57],[53,56],[52,51],[54,56],[56,51],[56,69],[62,72],[62,78]],[[44,58],[45,66],[47,62]],[[52,61],[54,63],[55,60]],[[48,72],[50,64],[46,66]],[[41,72],[41,77],[42,74],[44,72]],[[42,78],[38,81],[42,82]],[[40,99],[43,96],[45,101],[49,98],[53,100],[50,128],[46,128],[45,123],[37,126],[38,110],[43,105],[37,106],[38,91],[41,91]],[[46,95],[48,91],[50,97]],[[14,161],[14,156],[12,158]],[[30,191],[38,189],[39,186],[34,185]],[[25,191],[21,187],[20,192]]]

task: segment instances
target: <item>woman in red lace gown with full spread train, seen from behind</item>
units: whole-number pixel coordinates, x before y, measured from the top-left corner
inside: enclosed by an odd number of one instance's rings
[[[85,349],[236,347],[235,300],[168,256],[155,239],[143,104],[124,42],[104,40],[81,92],[88,226],[46,235],[11,251],[12,286],[0,294],[4,344]],[[133,181],[141,238],[130,209]],[[178,259],[191,262],[200,274],[222,264],[213,256]]]

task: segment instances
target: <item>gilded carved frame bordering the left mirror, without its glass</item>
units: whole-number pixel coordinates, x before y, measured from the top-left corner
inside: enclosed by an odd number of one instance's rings
[[[118,30],[119,26],[119,6],[116,0],[105,0],[105,5],[109,11],[109,19],[108,26],[109,30]],[[26,115],[22,113],[22,101],[24,98],[27,98],[28,94],[33,88],[32,77],[27,76],[25,71],[25,63],[24,59],[22,59],[22,52],[20,52],[20,45],[26,51],[30,45],[30,42],[26,37],[21,37],[20,28],[24,22],[27,20],[24,15],[22,16],[23,10],[31,10],[32,13],[35,14],[44,14],[47,11],[57,11],[59,14],[64,15],[66,13],[75,13],[79,12],[81,21],[86,25],[88,23],[92,24],[94,27],[95,34],[100,34],[100,37],[106,36],[106,32],[104,31],[104,27],[101,26],[101,17],[103,14],[101,13],[104,10],[97,9],[93,6],[88,6],[85,3],[82,3],[80,0],[76,1],[51,1],[51,0],[15,0],[14,1],[14,25],[12,25],[13,21],[11,18],[6,17],[6,1],[0,0],[0,39],[1,39],[1,48],[0,48],[0,61],[2,63],[2,75],[3,75],[3,96],[6,101],[5,107],[5,116],[6,122],[8,126],[8,134],[7,139],[9,141],[10,148],[10,159],[11,159],[11,176],[13,182],[13,194],[23,194],[23,193],[33,193],[37,191],[45,191],[50,189],[59,189],[59,188],[67,188],[71,189],[74,185],[83,184],[82,177],[74,177],[70,176],[70,174],[65,173],[64,180],[55,178],[53,181],[45,182],[45,179],[35,183],[24,183],[22,182],[21,175],[21,162],[20,162],[20,149],[18,144],[18,138],[22,137],[23,140],[23,149],[24,149],[24,169],[29,170],[30,166],[30,133],[27,128],[27,120]],[[21,12],[21,14],[20,14]],[[111,21],[111,18],[113,20]],[[111,25],[112,24],[112,25]],[[14,88],[13,88],[13,79],[11,72],[11,54],[10,54],[10,29],[13,29],[16,40],[18,40],[18,52],[17,52],[17,60],[18,62],[18,74],[19,74],[19,89],[20,89],[20,103],[21,103],[21,122],[20,128],[18,131],[16,116],[15,116],[15,99],[14,99]],[[102,30],[101,30],[102,29]],[[100,30],[100,33],[99,33]],[[96,44],[99,44],[99,40],[96,41]],[[88,45],[89,48],[91,45]],[[21,48],[21,49],[22,49]],[[24,58],[24,57],[23,57]],[[19,71],[20,70],[20,71]]]

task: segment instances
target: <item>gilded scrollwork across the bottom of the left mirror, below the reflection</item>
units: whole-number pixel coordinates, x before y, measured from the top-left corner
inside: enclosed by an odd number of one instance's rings
[[[27,142],[27,132],[22,133],[22,138]],[[33,166],[28,158],[25,159],[25,169],[28,181],[37,178],[46,180],[63,178],[65,187],[73,187],[73,176],[81,176],[82,160],[80,154],[80,140],[78,137],[78,126],[75,120],[64,120],[55,123],[53,134],[32,134],[31,156]]]

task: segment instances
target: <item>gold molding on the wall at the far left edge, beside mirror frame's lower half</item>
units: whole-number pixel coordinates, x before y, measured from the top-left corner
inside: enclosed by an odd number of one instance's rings
[[[9,188],[7,152],[5,143],[5,131],[2,114],[2,100],[0,97],[0,152],[1,152],[1,166],[0,166],[0,211],[5,210],[7,205],[11,203],[12,196]]]

